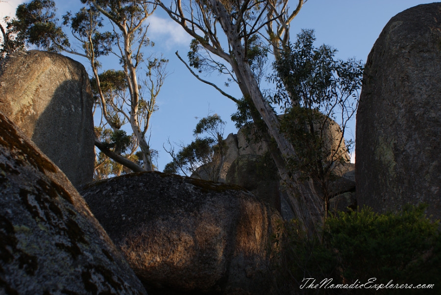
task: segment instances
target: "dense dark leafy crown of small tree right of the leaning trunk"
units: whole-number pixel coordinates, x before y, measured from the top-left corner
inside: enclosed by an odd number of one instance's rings
[[[327,45],[316,48],[315,41],[314,30],[302,30],[296,42],[274,63],[276,73],[270,81],[279,91],[273,102],[284,108],[300,105],[334,116],[333,104],[356,105],[357,100],[349,98],[357,98],[363,63],[353,58],[347,61],[336,59],[337,49]]]

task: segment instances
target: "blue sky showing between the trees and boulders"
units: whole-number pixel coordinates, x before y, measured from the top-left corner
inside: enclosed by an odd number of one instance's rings
[[[0,17],[11,15],[15,7],[25,1],[1,0]],[[76,12],[81,3],[79,0],[55,0],[58,13],[64,14],[70,10]],[[292,6],[296,1],[291,0]],[[308,0],[300,13],[291,23],[291,39],[302,28],[311,28],[316,32],[317,46],[327,44],[339,50],[337,56],[342,59],[355,57],[366,62],[369,51],[387,22],[397,13],[422,3],[433,1],[421,0]],[[171,157],[164,151],[167,140],[189,144],[193,140],[193,129],[198,122],[195,117],[202,118],[209,112],[217,113],[227,121],[225,137],[237,130],[230,121],[230,115],[235,112],[235,104],[224,98],[211,86],[198,81],[188,72],[185,66],[174,55],[179,51],[182,57],[188,52],[191,38],[168,16],[159,9],[149,19],[149,37],[156,46],[150,52],[163,53],[169,59],[167,71],[169,76],[163,85],[157,99],[159,110],[151,118],[151,148],[160,153],[159,170],[162,171]],[[85,60],[71,56],[82,62],[90,70]],[[118,62],[111,58],[102,61],[103,69],[117,68]],[[216,74],[206,79],[223,85],[224,79]],[[224,90],[237,98],[241,97],[236,87]],[[347,138],[355,136],[355,122]]]

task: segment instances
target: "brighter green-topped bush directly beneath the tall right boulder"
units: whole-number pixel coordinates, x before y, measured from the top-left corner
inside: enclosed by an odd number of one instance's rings
[[[376,214],[364,208],[360,213],[330,218],[326,239],[338,247],[343,277],[348,281],[377,276],[397,283],[441,282],[439,224],[425,218],[426,207],[406,206],[398,214]]]

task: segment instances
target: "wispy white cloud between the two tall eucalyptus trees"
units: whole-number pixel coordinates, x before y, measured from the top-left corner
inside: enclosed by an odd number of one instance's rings
[[[172,20],[152,15],[148,18],[148,37],[157,45],[173,49],[176,46],[189,45],[192,39],[184,29]]]

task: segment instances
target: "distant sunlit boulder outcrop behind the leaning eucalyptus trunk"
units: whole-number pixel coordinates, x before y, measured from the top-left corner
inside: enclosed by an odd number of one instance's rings
[[[318,116],[325,119],[324,115]],[[322,123],[317,124],[317,129],[323,128],[323,140],[325,154],[329,158],[334,154],[334,159],[341,158],[347,163],[336,161],[332,172],[336,176],[343,176],[346,172],[354,169],[353,164],[349,163],[349,154],[342,140],[342,130],[334,120],[326,118]],[[294,217],[292,208],[284,199],[286,193],[283,185],[279,183],[277,168],[268,153],[268,145],[258,139],[253,127],[244,126],[239,129],[237,134],[230,133],[225,139],[228,147],[225,155],[224,165],[221,169],[220,182],[239,185],[252,192],[255,196],[268,202],[273,208],[282,213],[284,219],[289,220]],[[210,175],[206,173],[202,166],[192,177],[209,180]],[[344,180],[341,180],[344,181]],[[355,188],[351,189],[355,191]],[[338,193],[347,191],[334,192]],[[285,196],[285,197],[284,197]],[[348,204],[351,205],[351,204]],[[353,205],[353,203],[352,203]]]

